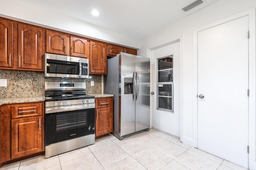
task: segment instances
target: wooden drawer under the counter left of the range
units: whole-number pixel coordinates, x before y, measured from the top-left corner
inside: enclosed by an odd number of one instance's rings
[[[12,119],[42,115],[42,103],[14,104]]]

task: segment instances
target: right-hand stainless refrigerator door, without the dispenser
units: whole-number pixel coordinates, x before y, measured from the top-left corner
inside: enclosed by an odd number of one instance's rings
[[[150,59],[136,56],[135,131],[150,127]]]

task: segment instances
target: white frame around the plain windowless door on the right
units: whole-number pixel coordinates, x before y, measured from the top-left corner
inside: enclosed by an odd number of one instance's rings
[[[234,16],[225,18],[223,20],[216,21],[214,23],[202,26],[198,29],[194,30],[194,54],[193,54],[193,147],[198,147],[198,32],[215,27],[217,25],[221,25],[223,23],[227,23],[229,21],[236,20],[238,18],[242,18],[244,16],[248,16],[248,29],[250,31],[250,38],[248,39],[248,61],[249,61],[249,70],[248,70],[248,79],[249,79],[249,89],[250,96],[248,102],[248,145],[249,145],[249,154],[248,154],[248,168],[256,169],[256,161],[255,161],[255,88],[256,88],[256,64],[255,64],[255,8],[251,10],[247,10],[245,12],[236,14]],[[246,35],[245,35],[246,36]]]

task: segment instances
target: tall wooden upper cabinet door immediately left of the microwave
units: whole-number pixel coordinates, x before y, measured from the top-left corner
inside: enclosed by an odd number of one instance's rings
[[[42,70],[42,28],[18,24],[18,68]]]

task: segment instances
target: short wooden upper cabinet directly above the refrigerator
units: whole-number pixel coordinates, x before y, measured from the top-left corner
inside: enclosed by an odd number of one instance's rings
[[[121,47],[119,45],[108,44],[108,51],[107,51],[108,56],[115,57],[116,55],[118,55],[121,52],[137,55],[137,50],[135,50],[135,49]]]

